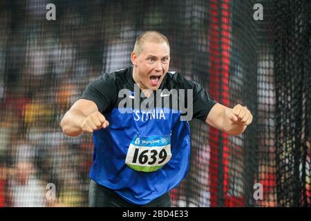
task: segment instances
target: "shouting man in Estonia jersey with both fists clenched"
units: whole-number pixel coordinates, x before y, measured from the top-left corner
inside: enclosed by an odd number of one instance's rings
[[[169,73],[169,41],[159,32],[138,37],[131,61],[133,66],[89,84],[61,122],[68,136],[93,133],[89,206],[171,206],[168,192],[182,181],[189,164],[189,116],[182,120],[185,109],[174,106],[182,103],[183,91],[191,117],[220,131],[239,135],[252,122],[246,107],[227,108],[200,84]],[[128,95],[120,93],[124,90]],[[142,106],[146,101],[148,109]],[[133,108],[137,102],[140,106]]]

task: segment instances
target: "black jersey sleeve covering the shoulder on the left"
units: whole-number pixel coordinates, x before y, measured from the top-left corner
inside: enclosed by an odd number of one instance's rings
[[[98,111],[106,113],[112,110],[117,99],[117,87],[113,77],[105,73],[90,84],[84,90],[80,99],[88,99],[97,105]]]

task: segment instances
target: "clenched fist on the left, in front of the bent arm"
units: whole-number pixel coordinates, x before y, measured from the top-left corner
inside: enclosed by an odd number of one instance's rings
[[[81,128],[83,132],[92,133],[100,128],[106,128],[107,126],[109,126],[109,122],[100,111],[97,111],[84,119]]]

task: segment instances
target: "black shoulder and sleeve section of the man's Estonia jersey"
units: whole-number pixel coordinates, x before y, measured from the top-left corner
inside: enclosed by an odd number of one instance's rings
[[[129,92],[133,92],[135,90],[135,81],[133,80],[132,73],[133,66],[117,70],[113,73],[105,73],[100,77],[100,79],[97,79],[88,85],[81,98],[95,102],[101,113],[110,113],[113,108],[117,108],[120,101],[124,98],[119,97],[120,90],[127,89]],[[186,103],[185,107],[189,105],[187,103],[187,90],[192,89],[193,102],[191,103],[193,104],[193,118],[200,119],[202,121],[205,121],[209,111],[211,111],[211,108],[214,104],[216,104],[215,100],[207,94],[205,88],[203,88],[196,81],[185,79],[185,77],[180,75],[180,73],[168,72],[159,87],[159,90],[164,91],[164,89],[169,91],[175,89],[178,91],[178,95],[180,95],[180,89],[184,89]],[[155,91],[153,94],[155,95],[154,97],[156,97]],[[144,98],[140,98],[140,103],[142,100],[144,100]],[[176,102],[176,99],[174,100],[173,96],[171,96],[170,106],[173,106],[172,102]],[[154,103],[157,105],[156,102]]]

